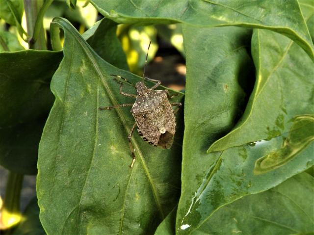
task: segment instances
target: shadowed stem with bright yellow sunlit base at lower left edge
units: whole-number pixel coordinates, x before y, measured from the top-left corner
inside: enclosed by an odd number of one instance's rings
[[[3,205],[1,208],[1,230],[17,225],[21,218],[20,197],[24,175],[9,172]]]

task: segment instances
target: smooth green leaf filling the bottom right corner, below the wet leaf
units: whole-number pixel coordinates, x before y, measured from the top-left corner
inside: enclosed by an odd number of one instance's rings
[[[312,234],[314,179],[296,175],[265,192],[245,196],[218,209],[202,234]],[[223,226],[221,226],[223,225]]]

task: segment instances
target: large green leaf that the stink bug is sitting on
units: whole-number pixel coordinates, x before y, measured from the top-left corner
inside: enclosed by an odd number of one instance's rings
[[[53,235],[151,234],[180,193],[180,130],[169,150],[154,148],[135,131],[137,159],[130,168],[130,108],[99,107],[134,102],[119,94],[111,74],[140,78],[104,61],[67,20],[55,18],[56,26],[64,31],[64,58],[52,78],[55,102],[39,145],[43,227]],[[174,100],[181,99],[179,93]]]

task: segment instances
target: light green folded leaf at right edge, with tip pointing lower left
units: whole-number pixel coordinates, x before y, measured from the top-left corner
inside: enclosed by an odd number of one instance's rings
[[[309,86],[314,63],[293,41],[274,32],[255,30],[252,55],[257,80],[245,113],[235,129],[211,145],[209,152],[282,135],[290,130],[291,118],[314,113]]]

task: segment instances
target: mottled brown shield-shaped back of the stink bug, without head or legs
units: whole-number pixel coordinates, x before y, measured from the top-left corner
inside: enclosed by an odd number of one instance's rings
[[[172,146],[176,120],[165,90],[150,90],[148,95],[138,97],[131,113],[145,141],[164,149]]]

